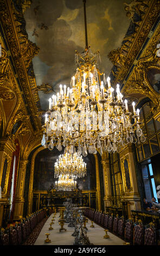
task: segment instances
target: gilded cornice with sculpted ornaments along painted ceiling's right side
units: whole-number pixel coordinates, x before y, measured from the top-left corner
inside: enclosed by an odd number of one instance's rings
[[[149,34],[153,23],[156,21],[157,16],[160,11],[160,4],[157,0],[148,0],[139,2],[133,0],[126,10],[129,17],[133,17],[134,13],[138,14],[138,9],[140,11],[138,23],[133,22],[135,25],[135,31],[130,32],[129,35],[126,34],[123,44],[117,50],[112,50],[108,57],[114,66],[116,66],[117,71],[111,71],[113,74],[113,86],[116,83],[122,83],[125,79],[127,72],[130,70],[131,65],[136,59],[136,56],[143,45],[146,36]]]

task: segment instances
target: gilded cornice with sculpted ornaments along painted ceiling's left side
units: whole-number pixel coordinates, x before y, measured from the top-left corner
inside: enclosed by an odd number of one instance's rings
[[[23,34],[17,31],[10,1],[1,1],[0,14],[0,21],[6,39],[4,44],[7,48],[8,58],[12,64],[12,68],[15,71],[15,78],[20,87],[25,108],[30,115],[34,129],[41,129],[41,120],[37,118],[39,108],[36,106],[39,97],[36,95],[35,100],[31,92],[31,89],[36,88],[35,78],[31,77],[29,79],[28,75],[31,59],[39,52],[39,48],[28,40],[27,35],[24,35],[25,33]],[[18,23],[17,27],[19,26],[20,24]],[[19,40],[20,38],[21,40]],[[25,41],[25,43],[22,44],[22,41]]]

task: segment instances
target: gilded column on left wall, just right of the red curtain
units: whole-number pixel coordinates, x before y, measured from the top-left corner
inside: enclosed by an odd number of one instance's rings
[[[28,160],[20,160],[20,169],[17,182],[17,196],[15,202],[14,220],[20,220],[23,217],[23,204],[24,204],[24,183],[25,183],[25,171]]]

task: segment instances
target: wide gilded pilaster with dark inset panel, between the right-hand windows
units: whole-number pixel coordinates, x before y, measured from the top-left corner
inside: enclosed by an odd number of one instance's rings
[[[140,210],[140,198],[138,193],[135,162],[132,146],[127,145],[119,154],[121,174],[123,178],[124,200],[127,202],[129,217],[131,210]]]

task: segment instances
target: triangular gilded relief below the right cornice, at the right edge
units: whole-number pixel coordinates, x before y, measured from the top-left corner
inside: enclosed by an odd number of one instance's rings
[[[148,71],[150,69],[160,70],[159,61],[160,58],[157,56],[157,43],[160,39],[160,25],[158,26],[156,32],[150,39],[149,45],[144,49],[142,56],[137,61],[135,68],[133,69],[130,77],[126,81],[122,92],[125,96],[130,94],[143,94],[145,97],[149,97],[155,109],[159,112],[160,108],[160,95],[153,89],[148,81]],[[132,84],[132,86],[131,86]]]

